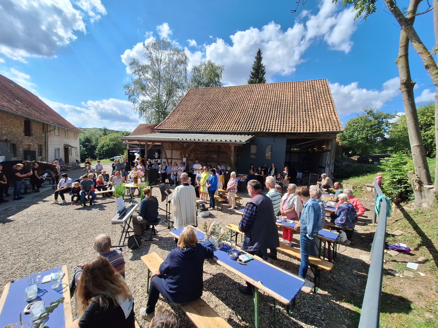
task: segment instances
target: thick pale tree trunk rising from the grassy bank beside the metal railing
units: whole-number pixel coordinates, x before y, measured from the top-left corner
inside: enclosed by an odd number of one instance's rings
[[[410,24],[413,24],[415,20],[418,4],[416,1],[411,1],[410,3],[407,11],[407,21],[409,21]],[[418,122],[417,108],[413,94],[415,82],[413,82],[411,78],[409,67],[409,38],[404,29],[400,31],[399,56],[396,59],[396,64],[400,75],[400,91],[402,92],[412,160],[415,169],[415,174],[410,175],[410,180],[414,186],[415,207],[427,207],[430,204],[427,202],[424,185],[431,185],[431,175],[429,167],[427,166],[423,140],[421,139],[420,124]]]

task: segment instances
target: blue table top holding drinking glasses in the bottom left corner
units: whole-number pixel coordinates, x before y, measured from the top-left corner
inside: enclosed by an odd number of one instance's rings
[[[62,268],[53,268],[44,272],[38,273],[38,276],[46,276],[52,272],[60,271]],[[67,273],[67,272],[65,272]],[[56,301],[63,297],[64,291],[70,293],[68,286],[59,286],[56,289],[52,289],[52,283],[45,283],[38,285],[38,297],[35,300],[26,302],[25,301],[25,288],[28,286],[28,277],[15,280],[11,283],[9,291],[7,292],[7,297],[4,302],[3,308],[0,310],[0,327],[6,325],[11,325],[13,323],[20,321],[20,312],[22,313],[22,321],[29,321],[30,314],[24,314],[23,310],[25,306],[29,303],[36,302],[39,300],[44,301],[44,307],[50,305],[50,302]],[[66,327],[65,315],[64,315],[64,303],[61,303],[54,311],[49,315],[49,320],[46,325],[52,328],[70,328]]]

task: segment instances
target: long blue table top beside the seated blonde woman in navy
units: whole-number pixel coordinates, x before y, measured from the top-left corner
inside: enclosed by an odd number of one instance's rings
[[[183,229],[184,228],[172,230],[171,233],[180,236]],[[196,234],[199,240],[203,240],[205,237],[205,234],[199,230],[197,230]],[[304,286],[304,279],[281,271],[269,265],[267,262],[259,261],[254,258],[247,262],[247,265],[241,265],[237,261],[231,260],[228,255],[231,251],[229,245],[225,245],[220,250],[215,248],[213,248],[213,250],[215,252],[215,258],[221,262],[219,264],[223,264],[225,268],[233,268],[244,276],[261,283],[266,289],[271,290],[286,300],[292,301]]]

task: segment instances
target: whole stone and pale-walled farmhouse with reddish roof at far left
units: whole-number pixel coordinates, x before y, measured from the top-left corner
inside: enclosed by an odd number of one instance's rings
[[[0,75],[0,162],[80,158],[76,126],[38,96]]]

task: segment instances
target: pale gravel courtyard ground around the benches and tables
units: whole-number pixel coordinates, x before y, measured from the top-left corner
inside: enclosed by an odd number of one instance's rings
[[[71,178],[77,178],[81,172],[71,170],[68,173]],[[46,187],[41,188],[39,194],[25,195],[21,201],[0,204],[0,244],[3,246],[0,252],[1,290],[11,280],[64,264],[69,268],[68,274],[71,276],[75,265],[97,254],[92,247],[96,235],[109,234],[113,244],[117,244],[120,238],[121,227],[110,223],[117,213],[113,199],[99,195],[92,207],[82,208],[71,206],[67,197],[66,204],[52,205],[53,190],[47,184],[43,186]],[[153,194],[159,196],[159,189],[153,188]],[[244,206],[249,199],[248,195],[244,192],[238,195],[244,197],[241,201]],[[6,199],[11,200],[12,197]],[[161,196],[158,199],[161,200]],[[164,203],[160,207],[163,206]],[[210,217],[198,219],[199,226],[206,220],[215,220],[224,226],[228,223],[238,224],[240,221],[240,215],[225,206],[223,212],[212,210],[210,213]],[[358,231],[361,226],[365,227],[367,223],[358,223]],[[126,279],[134,294],[136,317],[141,327],[147,327],[147,321],[138,314],[140,307],[146,304],[147,294],[146,267],[140,257],[155,251],[165,258],[176,246],[164,223],[157,228],[159,232],[155,241],[143,241],[140,249],[124,251]],[[321,288],[316,294],[298,294],[297,305],[290,316],[286,314],[285,307],[277,304],[278,327],[357,326],[350,314],[354,317],[352,305],[360,307],[362,301],[368,270],[367,251],[372,234],[359,232],[357,237],[354,248],[342,247],[343,252],[339,252],[332,272],[322,272]],[[297,239],[295,241],[298,242]],[[299,247],[297,244],[294,246]],[[279,253],[279,260],[272,263],[290,272],[298,272],[299,262],[282,253]],[[252,297],[238,290],[244,283],[244,280],[214,262],[205,262],[202,298],[233,327],[254,327]],[[183,327],[194,327],[176,304],[160,298],[158,305],[170,307],[177,313]],[[272,311],[273,299],[261,293],[260,327],[273,326]]]

